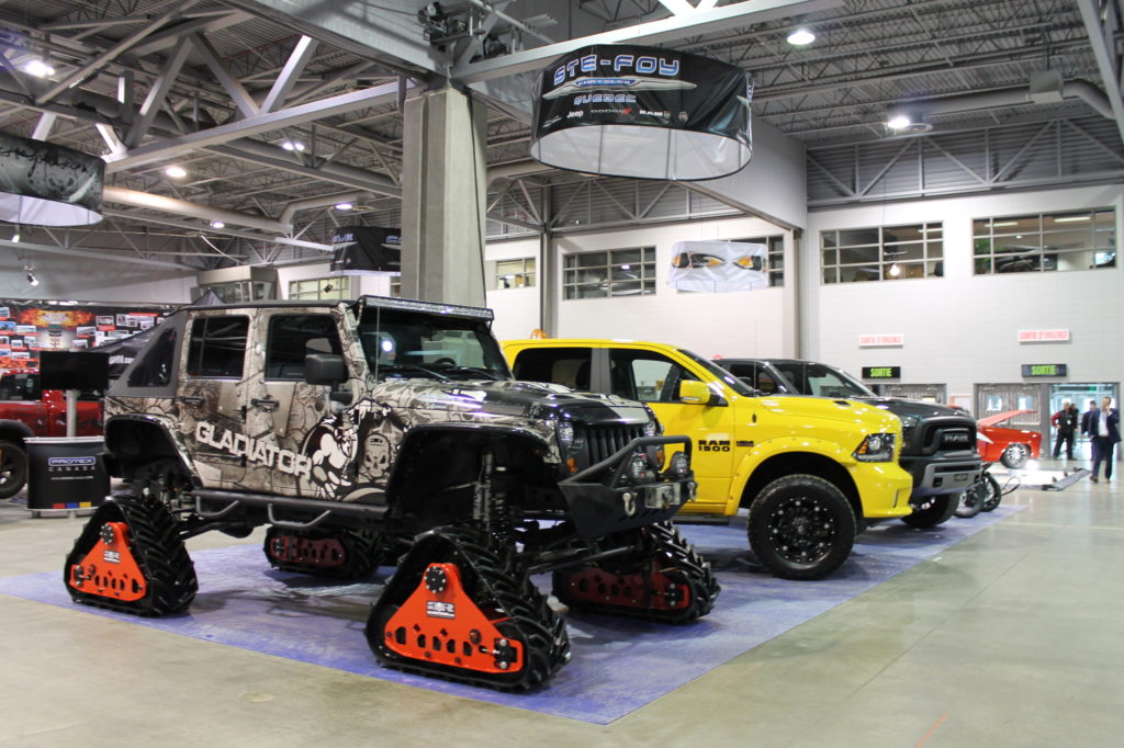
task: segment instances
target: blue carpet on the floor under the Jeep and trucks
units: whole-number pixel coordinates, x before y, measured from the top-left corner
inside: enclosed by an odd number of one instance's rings
[[[753,565],[744,519],[732,526],[681,526],[714,565],[717,605],[688,626],[568,614],[573,660],[547,685],[507,694],[380,667],[363,637],[371,602],[392,572],[371,582],[328,584],[269,567],[259,544],[193,554],[199,595],[188,613],[139,619],[71,602],[56,573],[0,578],[0,593],[73,608],[197,639],[252,649],[359,675],[606,724],[718,665],[835,608],[1018,511],[999,507],[970,520],[913,530],[887,522],[858,538],[840,572],[819,582],[786,582]],[[549,578],[540,585],[549,585]],[[658,675],[654,675],[658,674]]]

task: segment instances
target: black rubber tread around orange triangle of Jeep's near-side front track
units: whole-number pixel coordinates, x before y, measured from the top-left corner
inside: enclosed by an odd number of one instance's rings
[[[500,691],[524,691],[549,679],[570,662],[570,638],[562,618],[525,571],[501,560],[487,544],[484,532],[465,527],[436,528],[417,538],[387,582],[366,622],[366,640],[379,663]],[[523,642],[525,667],[513,673],[482,673],[406,658],[387,647],[387,621],[422,584],[423,574],[434,563],[455,564],[477,606],[495,609],[507,617],[496,626],[508,639]]]

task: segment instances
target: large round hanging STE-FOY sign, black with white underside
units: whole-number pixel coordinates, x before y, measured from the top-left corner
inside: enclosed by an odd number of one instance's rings
[[[676,49],[593,45],[535,84],[535,159],[578,172],[710,180],[750,163],[749,73]]]

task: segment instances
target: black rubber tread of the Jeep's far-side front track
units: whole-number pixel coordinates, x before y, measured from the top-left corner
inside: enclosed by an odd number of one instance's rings
[[[637,538],[637,535],[640,536]],[[655,567],[661,574],[677,584],[686,585],[690,604],[686,608],[672,610],[661,610],[658,608],[645,608],[643,605],[622,605],[595,603],[571,593],[569,581],[583,569],[561,569],[553,574],[554,595],[568,608],[575,611],[604,613],[625,618],[638,618],[647,621],[659,621],[661,623],[689,623],[710,612],[714,602],[718,598],[722,587],[714,578],[710,564],[695,550],[679,530],[670,521],[658,522],[634,532],[626,533],[626,537],[636,542],[642,551],[638,555],[629,555],[625,565],[620,563],[606,566],[605,571],[616,575],[629,575],[641,573],[646,576],[649,569]],[[645,590],[645,595],[650,592]],[[650,596],[649,596],[650,599]]]

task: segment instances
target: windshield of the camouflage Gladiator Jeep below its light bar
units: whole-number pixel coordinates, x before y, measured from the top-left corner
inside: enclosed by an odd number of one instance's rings
[[[477,319],[366,308],[359,325],[377,378],[509,380],[499,344]]]

